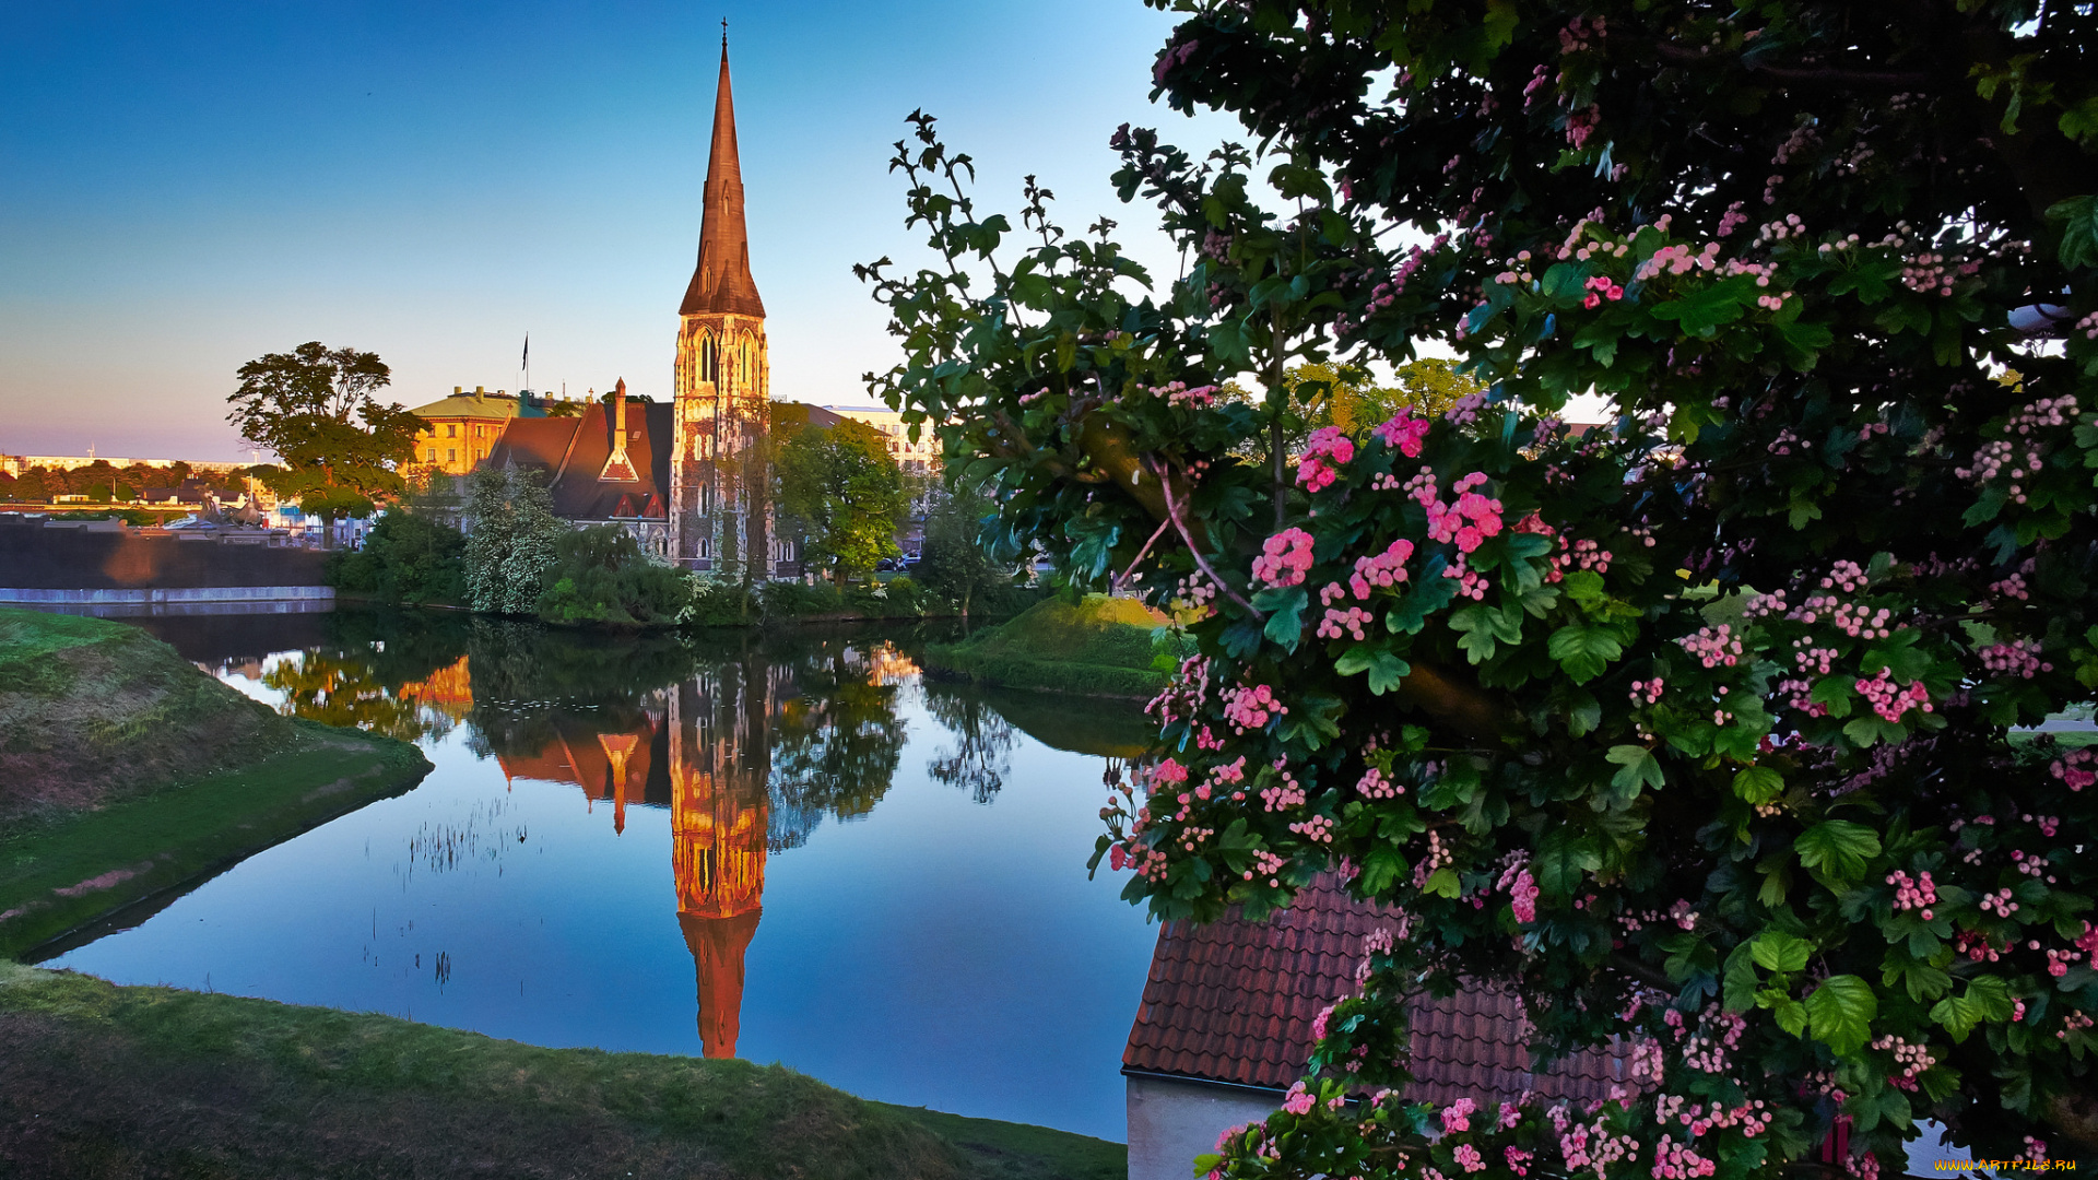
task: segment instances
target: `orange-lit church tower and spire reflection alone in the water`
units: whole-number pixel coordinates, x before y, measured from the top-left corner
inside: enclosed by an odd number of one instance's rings
[[[743,953],[764,913],[770,697],[728,666],[669,699],[671,876],[707,1056],[736,1056]]]

